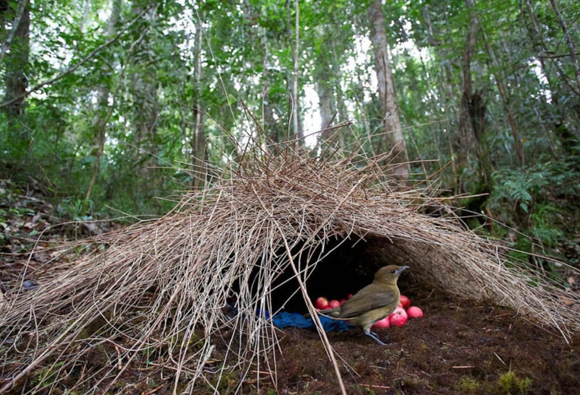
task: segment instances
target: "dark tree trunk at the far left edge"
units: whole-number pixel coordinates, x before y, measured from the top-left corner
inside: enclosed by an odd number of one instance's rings
[[[3,13],[10,15],[8,10]],[[28,88],[28,52],[30,50],[30,6],[26,0],[20,0],[19,8],[14,15],[13,30],[9,32],[8,38],[2,44],[2,55],[10,46],[10,52],[6,53],[5,59],[5,96],[3,102],[11,102],[16,97],[22,97],[14,103],[6,106],[4,112],[8,120],[8,131],[10,141],[16,152],[22,152],[30,144],[30,135],[20,122],[20,117],[24,113],[24,93]]]

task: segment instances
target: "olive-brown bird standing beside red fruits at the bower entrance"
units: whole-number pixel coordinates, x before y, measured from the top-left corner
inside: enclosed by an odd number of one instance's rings
[[[397,308],[401,293],[397,287],[397,279],[408,266],[385,266],[375,273],[375,279],[367,287],[362,288],[342,306],[333,309],[321,310],[322,315],[328,314],[332,318],[350,321],[351,324],[361,327],[365,335],[375,342],[381,342],[371,325],[382,320]]]

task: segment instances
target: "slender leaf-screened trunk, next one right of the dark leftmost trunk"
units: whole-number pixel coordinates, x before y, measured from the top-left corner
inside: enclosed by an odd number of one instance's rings
[[[117,34],[117,24],[119,21],[119,16],[121,15],[121,4],[122,0],[114,0],[113,8],[111,8],[111,15],[107,23],[107,38],[113,37]],[[103,70],[103,74],[110,74],[111,70],[107,68]],[[86,189],[85,200],[90,199],[90,195],[93,193],[93,188],[95,187],[95,182],[100,171],[101,157],[103,156],[104,144],[106,140],[106,114],[108,110],[108,96],[110,90],[107,88],[107,84],[103,82],[97,88],[97,103],[95,108],[95,116],[92,121],[93,133],[95,133],[95,162],[93,162],[93,174],[90,177],[89,186]]]

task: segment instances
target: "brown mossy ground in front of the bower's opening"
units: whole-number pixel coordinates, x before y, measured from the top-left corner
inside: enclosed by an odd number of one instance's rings
[[[425,316],[377,329],[387,346],[360,329],[328,334],[349,394],[580,393],[580,336],[567,344],[501,307],[429,289],[407,294]],[[284,334],[278,392],[339,393],[317,333]]]

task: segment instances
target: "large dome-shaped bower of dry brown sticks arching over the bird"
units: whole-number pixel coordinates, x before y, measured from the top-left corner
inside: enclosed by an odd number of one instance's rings
[[[580,330],[580,313],[562,302],[577,295],[506,264],[502,247],[466,230],[426,190],[393,188],[378,165],[384,158],[255,154],[211,187],[184,194],[162,218],[90,239],[102,247],[53,270],[35,291],[8,293],[0,305],[2,390],[44,366],[56,385],[107,343],[119,365],[88,369],[78,388],[91,383],[104,392],[143,350],[165,353],[163,367],[193,384],[204,380],[201,368],[223,340],[227,358],[248,374],[276,357],[280,332],[264,316],[276,313],[276,279],[297,274],[303,285],[333,240],[373,240],[384,247],[385,264],[411,266],[414,281],[513,307],[564,339]],[[426,206],[440,215],[423,213]],[[222,307],[234,291],[239,314],[229,319]],[[222,337],[225,328],[233,328],[231,338]]]

